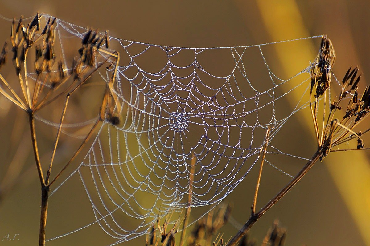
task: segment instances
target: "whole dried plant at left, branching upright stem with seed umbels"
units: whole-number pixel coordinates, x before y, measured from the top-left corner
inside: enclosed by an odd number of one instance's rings
[[[82,47],[78,50],[78,56],[73,60],[71,69],[65,67],[65,60],[57,60],[55,54],[55,30],[56,18],[49,17],[45,27],[41,30],[40,18],[43,14],[37,13],[30,23],[24,24],[22,17],[16,22],[14,19],[11,24],[10,51],[13,53],[12,63],[16,72],[16,78],[20,87],[20,94],[13,89],[17,84],[11,81],[8,83],[0,74],[1,83],[0,93],[17,107],[28,114],[31,141],[35,156],[36,168],[41,184],[41,216],[40,216],[40,236],[39,245],[45,245],[45,228],[48,208],[48,193],[51,184],[58,179],[60,174],[68,167],[73,159],[81,151],[88,141],[94,129],[101,121],[109,121],[113,125],[120,123],[117,112],[120,111],[117,96],[111,91],[114,88],[119,62],[119,53],[110,52],[108,49],[108,34],[104,35],[97,31],[89,30],[82,40]],[[104,45],[104,47],[103,47]],[[7,62],[7,42],[0,52],[0,68]],[[34,59],[29,58],[33,50]],[[36,81],[30,80],[28,74],[30,70],[27,62],[31,60],[33,69],[36,72]],[[79,89],[88,78],[91,77],[102,66],[115,66],[110,81],[107,83],[100,112],[95,124],[87,134],[80,147],[76,150],[71,159],[65,164],[60,172],[49,182],[51,169],[58,146],[61,129],[68,101],[74,92]],[[53,103],[59,97],[65,97],[64,107],[61,113],[60,125],[54,142],[51,161],[44,177],[43,167],[40,163],[37,136],[35,131],[34,114],[38,110]]]

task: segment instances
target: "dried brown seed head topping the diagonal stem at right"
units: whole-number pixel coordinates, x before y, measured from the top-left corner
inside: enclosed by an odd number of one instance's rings
[[[320,153],[320,160],[323,160],[333,146],[338,146],[353,138],[357,138],[357,149],[363,149],[364,143],[360,136],[367,132],[354,132],[354,128],[358,123],[368,115],[370,111],[370,90],[369,86],[364,90],[361,99],[359,99],[359,82],[361,75],[357,76],[359,68],[351,67],[347,70],[343,77],[343,86],[339,96],[335,97],[333,103],[330,105],[330,112],[326,118],[326,103],[327,91],[330,88],[332,66],[335,60],[335,51],[330,39],[323,36],[321,42],[320,52],[317,55],[315,62],[311,69],[311,93],[310,93],[310,107],[314,128],[316,132],[317,143]],[[316,88],[316,95],[314,106],[312,105],[312,91]],[[317,120],[317,104],[319,100],[323,102],[323,122],[321,132]],[[339,120],[336,119],[336,111],[342,110],[341,103],[348,100],[347,109],[344,117]],[[339,150],[335,150],[339,151]]]

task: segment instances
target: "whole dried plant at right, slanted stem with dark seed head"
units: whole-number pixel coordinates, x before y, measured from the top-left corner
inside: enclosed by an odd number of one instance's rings
[[[327,93],[330,88],[332,67],[335,61],[335,51],[333,44],[326,36],[322,37],[319,54],[312,64],[311,69],[311,90],[310,90],[310,108],[313,119],[313,126],[316,132],[317,151],[306,165],[299,171],[299,173],[279,192],[273,197],[263,208],[255,212],[256,199],[252,205],[252,215],[240,229],[238,233],[229,241],[227,246],[235,246],[240,239],[243,238],[246,232],[255,224],[255,222],[270,209],[277,201],[279,201],[295,184],[307,173],[307,171],[317,162],[323,160],[331,151],[346,151],[354,149],[338,149],[332,150],[333,146],[339,146],[342,143],[347,143],[351,139],[357,139],[356,149],[364,148],[363,140],[360,138],[364,133],[370,130],[355,132],[354,128],[362,121],[370,111],[370,89],[366,87],[359,99],[358,84],[361,75],[357,76],[358,67],[347,71],[343,78],[343,87],[338,97],[334,99],[330,105],[329,115],[326,115]],[[315,101],[312,103],[313,88],[316,89],[314,95]],[[351,95],[351,96],[349,96]],[[322,129],[319,129],[319,121],[317,119],[318,102],[322,101],[324,107],[322,111]],[[344,117],[339,120],[335,118],[337,110],[341,110],[341,103],[348,100],[347,110]],[[264,159],[264,158],[263,158]],[[262,161],[263,161],[262,159]],[[258,179],[258,183],[260,176]],[[258,187],[258,185],[257,185]],[[256,193],[258,189],[256,189]],[[255,195],[256,197],[256,195]]]

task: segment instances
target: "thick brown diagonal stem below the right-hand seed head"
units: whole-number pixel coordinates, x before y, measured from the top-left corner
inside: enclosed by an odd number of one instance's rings
[[[299,171],[299,173],[279,192],[275,195],[272,200],[270,200],[265,207],[261,208],[260,211],[258,211],[256,214],[252,214],[248,221],[243,225],[243,227],[240,229],[238,233],[229,241],[229,243],[226,246],[235,246],[236,243],[249,231],[249,229],[258,221],[259,218],[263,214],[265,214],[266,211],[268,211],[273,205],[275,205],[276,202],[278,202],[295,184],[302,179],[303,176],[307,173],[308,170],[319,160],[320,155],[322,153],[322,149],[316,151],[316,153],[312,156],[312,158],[306,163],[306,165]]]

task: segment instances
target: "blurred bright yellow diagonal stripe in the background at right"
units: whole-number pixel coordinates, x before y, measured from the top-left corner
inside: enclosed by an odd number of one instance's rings
[[[287,37],[309,37],[309,33],[303,23],[299,8],[295,0],[256,0],[262,20],[266,30],[269,32],[272,41],[285,40]],[[330,37],[329,37],[330,38]],[[318,48],[311,42],[310,46],[302,46],[301,49],[276,49],[280,59],[281,67],[286,75],[292,75],[302,69],[296,67],[297,63],[291,61],[292,57],[312,57],[316,56]],[[292,42],[292,46],[302,45],[300,42]],[[292,46],[290,46],[292,48]],[[335,42],[334,42],[335,48]],[[299,53],[297,53],[299,50]],[[292,52],[294,51],[294,53]],[[302,96],[302,91],[293,90],[290,93],[292,106]],[[305,114],[303,127],[311,131],[314,136],[312,119],[309,114]],[[363,151],[337,154],[331,153],[325,160],[327,169],[338,187],[354,221],[356,222],[363,240],[370,245],[370,164]],[[345,160],[346,163],[343,163]],[[330,162],[329,162],[330,161]]]

